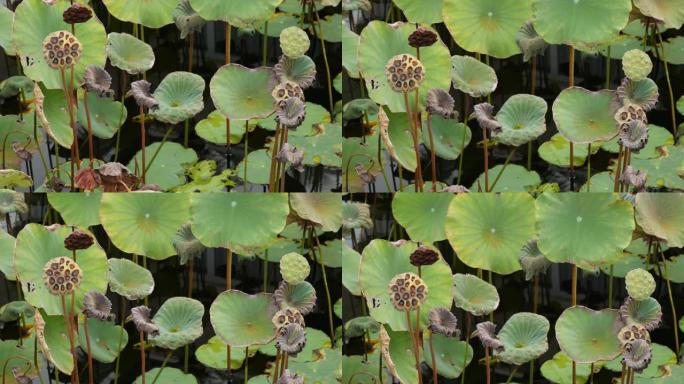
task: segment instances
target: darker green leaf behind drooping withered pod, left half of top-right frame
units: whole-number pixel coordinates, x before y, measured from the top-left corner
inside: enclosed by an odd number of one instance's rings
[[[430,128],[432,128],[432,139],[435,142],[435,155],[445,160],[457,159],[463,148],[470,144],[472,138],[470,127],[467,125],[437,115],[430,115]],[[432,149],[427,121],[423,123],[422,136],[423,144],[428,149]]]

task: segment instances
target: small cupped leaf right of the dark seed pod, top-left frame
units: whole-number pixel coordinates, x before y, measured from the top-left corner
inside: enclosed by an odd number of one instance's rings
[[[149,44],[128,33],[117,32],[107,36],[107,57],[113,66],[131,75],[149,71],[155,60]]]

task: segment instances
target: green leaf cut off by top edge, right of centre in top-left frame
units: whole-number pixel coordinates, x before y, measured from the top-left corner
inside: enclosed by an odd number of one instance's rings
[[[248,24],[254,21],[267,20],[275,8],[283,0],[253,0],[253,1],[216,1],[190,0],[190,5],[206,20],[225,20],[231,24]],[[300,9],[295,13],[299,13]]]

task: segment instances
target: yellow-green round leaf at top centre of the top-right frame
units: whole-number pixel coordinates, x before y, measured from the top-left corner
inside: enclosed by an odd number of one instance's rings
[[[532,18],[532,0],[444,0],[444,23],[466,51],[505,59],[520,53],[515,36]]]

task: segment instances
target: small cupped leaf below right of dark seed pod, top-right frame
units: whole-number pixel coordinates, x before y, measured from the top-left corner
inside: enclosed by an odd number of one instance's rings
[[[499,79],[494,69],[470,56],[451,58],[451,81],[454,88],[472,97],[483,97],[496,90]]]

